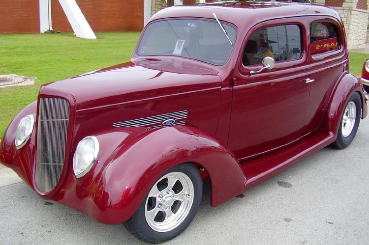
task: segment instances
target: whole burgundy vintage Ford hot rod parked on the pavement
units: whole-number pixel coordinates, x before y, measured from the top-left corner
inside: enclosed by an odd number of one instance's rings
[[[169,7],[130,62],[44,85],[0,162],[41,197],[139,239],[179,235],[202,180],[216,206],[354,139],[367,98],[337,12],[310,4]]]

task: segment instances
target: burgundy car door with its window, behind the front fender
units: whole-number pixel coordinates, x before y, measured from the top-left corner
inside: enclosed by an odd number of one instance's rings
[[[249,33],[235,73],[228,138],[240,160],[303,136],[309,98],[304,24],[294,18],[274,20]],[[258,72],[265,56],[276,60],[275,68]]]

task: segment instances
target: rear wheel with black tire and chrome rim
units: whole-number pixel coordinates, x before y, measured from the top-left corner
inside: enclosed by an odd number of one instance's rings
[[[355,109],[355,111],[352,111],[353,109]],[[351,116],[349,115],[350,112]],[[342,111],[337,139],[332,143],[332,147],[343,149],[352,142],[359,128],[360,116],[361,99],[359,93],[355,92],[350,96],[345,109]]]

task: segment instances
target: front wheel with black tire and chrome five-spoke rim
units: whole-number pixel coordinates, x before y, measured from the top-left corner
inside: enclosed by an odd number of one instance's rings
[[[147,243],[171,240],[192,222],[201,197],[202,180],[199,171],[192,163],[179,164],[157,180],[124,226],[135,237]],[[179,201],[181,198],[183,200]]]

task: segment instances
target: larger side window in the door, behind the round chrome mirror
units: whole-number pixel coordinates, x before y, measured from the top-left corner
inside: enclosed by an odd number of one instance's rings
[[[246,66],[261,64],[267,56],[276,61],[298,59],[301,47],[301,29],[297,25],[262,28],[248,39],[242,62]]]

